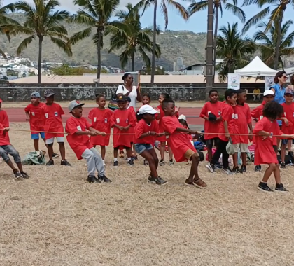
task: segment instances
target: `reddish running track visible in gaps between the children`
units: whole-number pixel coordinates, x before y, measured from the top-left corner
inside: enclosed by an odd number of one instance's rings
[[[83,116],[87,118],[91,107],[83,108]],[[71,116],[69,109],[63,108],[65,115],[62,116],[62,120],[65,123],[66,120]],[[24,108],[7,108],[5,111],[8,114],[10,122],[26,122],[25,109]],[[201,108],[200,107],[181,107],[179,113],[185,116],[199,116]],[[187,118],[188,125],[204,125],[204,120],[202,118]]]

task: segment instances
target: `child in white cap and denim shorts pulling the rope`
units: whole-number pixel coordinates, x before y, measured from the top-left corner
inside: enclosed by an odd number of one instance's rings
[[[158,113],[152,106],[145,104],[141,106],[137,113],[138,123],[134,128],[134,147],[144,160],[148,161],[151,174],[148,181],[160,186],[165,186],[167,181],[158,176],[158,155],[154,151],[154,137],[165,133],[158,134],[159,126],[155,120],[155,114]]]

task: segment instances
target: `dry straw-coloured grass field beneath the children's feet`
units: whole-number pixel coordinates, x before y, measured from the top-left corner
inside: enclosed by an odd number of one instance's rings
[[[11,131],[10,139],[21,155],[33,147],[29,133]],[[184,186],[186,163],[160,167],[169,184],[158,187],[147,183],[141,158],[113,169],[109,148],[113,183],[89,184],[85,162],[66,148],[73,167],[25,167],[29,180],[14,181],[0,165],[0,265],[294,264],[294,167],[282,171],[286,195],[257,190],[262,173],[253,167],[225,176],[208,173],[204,162],[207,190]]]

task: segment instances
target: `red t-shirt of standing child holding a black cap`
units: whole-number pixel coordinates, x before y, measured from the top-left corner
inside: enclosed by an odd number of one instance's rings
[[[200,118],[204,116],[209,116],[209,113],[213,113],[217,118],[221,116],[221,110],[223,108],[223,102],[211,103],[207,102],[202,107]],[[205,120],[204,122],[204,139],[214,139],[218,137],[218,130],[221,125],[221,120],[216,122],[211,122]],[[205,134],[206,133],[216,133],[216,134]]]

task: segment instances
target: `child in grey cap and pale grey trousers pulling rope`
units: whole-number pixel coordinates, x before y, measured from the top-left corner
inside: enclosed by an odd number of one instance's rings
[[[65,130],[68,133],[66,139],[69,142],[69,146],[76,153],[78,160],[82,158],[87,162],[87,181],[89,183],[101,183],[111,182],[104,174],[104,164],[101,155],[93,147],[89,135],[105,135],[105,132],[99,132],[95,130],[93,125],[87,122],[86,118],[83,118],[83,105],[78,101],[71,101],[69,103],[69,112],[71,118],[66,121]],[[95,176],[95,171],[98,172],[98,179]]]

